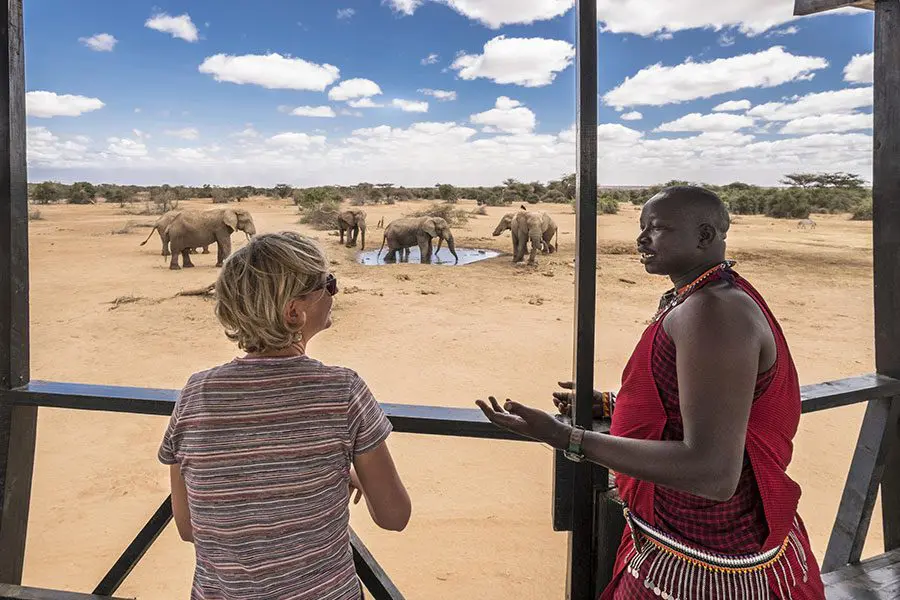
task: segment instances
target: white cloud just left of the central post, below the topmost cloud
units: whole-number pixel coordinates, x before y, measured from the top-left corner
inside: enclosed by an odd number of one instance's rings
[[[497,36],[482,54],[461,54],[451,69],[463,79],[484,77],[495,83],[525,87],[549,85],[575,57],[575,47],[563,40]]]

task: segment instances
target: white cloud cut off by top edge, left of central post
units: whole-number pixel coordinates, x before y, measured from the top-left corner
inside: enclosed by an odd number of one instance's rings
[[[395,11],[411,15],[424,0],[382,0]],[[499,29],[504,25],[528,25],[563,15],[574,0],[433,0],[446,4],[459,14]]]

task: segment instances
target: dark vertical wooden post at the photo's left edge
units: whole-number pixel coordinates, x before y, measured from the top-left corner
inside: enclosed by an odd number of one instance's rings
[[[9,87],[0,93],[0,388],[28,383],[28,190],[25,173],[25,64],[22,0],[0,8],[0,66]],[[0,404],[0,582],[18,584],[37,409]]]

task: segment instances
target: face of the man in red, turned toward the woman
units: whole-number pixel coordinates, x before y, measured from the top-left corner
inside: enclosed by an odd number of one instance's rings
[[[702,262],[698,224],[691,212],[664,194],[644,204],[637,238],[641,264],[653,275],[681,275]]]

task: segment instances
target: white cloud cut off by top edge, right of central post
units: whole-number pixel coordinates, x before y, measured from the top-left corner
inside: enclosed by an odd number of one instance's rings
[[[792,0],[597,0],[597,19],[603,30],[649,36],[660,31],[734,27],[758,35],[794,21]],[[856,14],[848,9],[828,14]]]

